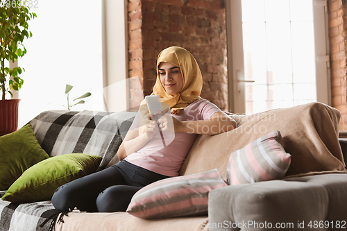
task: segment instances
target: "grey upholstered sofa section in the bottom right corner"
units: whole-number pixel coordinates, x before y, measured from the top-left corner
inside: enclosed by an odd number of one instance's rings
[[[339,142],[346,160],[347,139]],[[344,230],[346,208],[346,173],[271,180],[211,191],[207,226],[224,231]]]

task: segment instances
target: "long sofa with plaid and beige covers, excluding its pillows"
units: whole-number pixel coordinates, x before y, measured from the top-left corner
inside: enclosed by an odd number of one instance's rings
[[[67,153],[99,155],[104,169],[117,152],[135,112],[47,111],[29,123],[49,157]],[[50,200],[0,200],[0,230],[339,230],[346,228],[346,139],[339,139],[341,115],[323,103],[270,110],[251,116],[230,114],[237,128],[198,135],[180,176],[217,169],[227,180],[230,153],[278,130],[291,155],[280,179],[228,185],[208,194],[208,213],[141,219],[127,212],[59,213]],[[343,152],[344,151],[344,152]],[[3,196],[6,191],[0,191]],[[277,226],[276,226],[277,225]],[[287,226],[285,226],[287,225]],[[292,226],[291,226],[292,225]]]

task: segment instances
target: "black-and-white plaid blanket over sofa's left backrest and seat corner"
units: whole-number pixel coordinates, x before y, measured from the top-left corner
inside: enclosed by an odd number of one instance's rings
[[[67,153],[99,155],[104,169],[115,156],[126,132],[133,123],[135,112],[71,112],[46,111],[37,115],[33,125],[37,141],[53,157]],[[0,191],[0,197],[5,191]],[[51,201],[10,203],[0,200],[0,231],[49,230],[57,214]],[[40,227],[41,223],[49,219]]]

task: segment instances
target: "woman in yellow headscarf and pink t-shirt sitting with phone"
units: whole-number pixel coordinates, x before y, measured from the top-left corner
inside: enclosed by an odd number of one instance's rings
[[[103,171],[59,187],[52,197],[54,207],[59,211],[74,207],[87,212],[126,211],[136,191],[178,176],[198,134],[216,135],[236,127],[216,105],[201,99],[202,85],[201,71],[189,51],[172,46],[160,52],[152,95],[159,95],[171,114],[149,114],[142,101],[117,156]]]

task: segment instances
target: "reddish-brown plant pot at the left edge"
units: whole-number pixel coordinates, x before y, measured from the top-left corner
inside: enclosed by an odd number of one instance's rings
[[[17,130],[18,105],[19,99],[0,100],[0,136]]]

